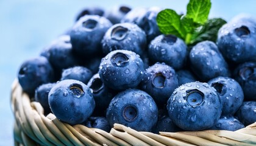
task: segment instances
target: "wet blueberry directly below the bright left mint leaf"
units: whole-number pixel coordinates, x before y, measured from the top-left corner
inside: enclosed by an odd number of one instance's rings
[[[148,48],[152,62],[164,62],[174,69],[181,69],[187,57],[187,45],[174,35],[159,35]]]

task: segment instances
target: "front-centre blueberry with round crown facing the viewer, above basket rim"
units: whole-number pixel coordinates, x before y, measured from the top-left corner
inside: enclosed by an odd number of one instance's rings
[[[114,123],[121,123],[137,131],[151,131],[157,116],[157,105],[152,97],[139,89],[119,92],[107,109],[107,120],[112,127]]]

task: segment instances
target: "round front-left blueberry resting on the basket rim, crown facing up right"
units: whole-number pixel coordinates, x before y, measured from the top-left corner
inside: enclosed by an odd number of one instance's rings
[[[62,80],[49,92],[52,113],[63,122],[76,125],[93,113],[95,102],[91,89],[77,80]]]

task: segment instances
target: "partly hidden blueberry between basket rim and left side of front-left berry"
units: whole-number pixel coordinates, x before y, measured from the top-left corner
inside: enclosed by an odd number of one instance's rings
[[[51,113],[48,102],[48,94],[55,83],[46,83],[35,89],[35,102],[39,102],[44,109],[44,115]]]

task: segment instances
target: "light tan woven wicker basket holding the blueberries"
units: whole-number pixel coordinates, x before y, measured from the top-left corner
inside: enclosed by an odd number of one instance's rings
[[[84,125],[68,125],[54,114],[44,116],[38,102],[30,102],[18,80],[11,95],[15,116],[15,145],[256,145],[256,122],[238,131],[205,130],[177,133],[138,132],[115,124],[110,133]]]

